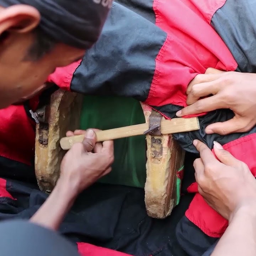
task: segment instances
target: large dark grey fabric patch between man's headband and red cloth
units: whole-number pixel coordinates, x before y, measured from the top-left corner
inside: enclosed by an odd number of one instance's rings
[[[70,89],[145,101],[166,36],[154,23],[115,2],[99,40],[76,69]]]

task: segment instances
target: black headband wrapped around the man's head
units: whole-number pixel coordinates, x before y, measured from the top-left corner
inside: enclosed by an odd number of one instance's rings
[[[0,6],[25,4],[41,14],[39,27],[57,42],[88,49],[100,36],[112,0],[0,0]]]

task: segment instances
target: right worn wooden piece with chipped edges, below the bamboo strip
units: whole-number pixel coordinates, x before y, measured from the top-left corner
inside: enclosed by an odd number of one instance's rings
[[[143,103],[142,108],[148,122],[151,108]],[[183,166],[185,153],[171,134],[147,135],[146,144],[146,210],[150,217],[163,219],[176,205],[176,173]]]

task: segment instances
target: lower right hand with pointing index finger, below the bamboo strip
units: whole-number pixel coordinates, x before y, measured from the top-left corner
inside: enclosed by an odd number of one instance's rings
[[[201,157],[194,161],[198,192],[206,202],[228,220],[243,206],[255,207],[256,180],[248,166],[217,142],[218,159],[204,143],[195,140],[193,144]]]

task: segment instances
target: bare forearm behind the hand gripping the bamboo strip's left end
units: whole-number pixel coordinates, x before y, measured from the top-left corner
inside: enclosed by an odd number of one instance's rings
[[[68,183],[58,181],[47,200],[30,219],[31,222],[57,230],[66,213],[73,206],[76,191]]]

